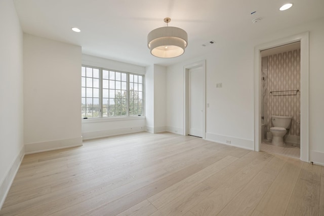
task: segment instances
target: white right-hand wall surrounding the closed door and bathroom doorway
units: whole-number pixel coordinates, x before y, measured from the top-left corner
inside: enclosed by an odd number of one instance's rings
[[[322,122],[324,121],[324,19],[273,32],[263,38],[242,44],[222,46],[217,43],[213,53],[168,67],[167,69],[167,128],[183,128],[183,66],[206,59],[207,92],[206,139],[254,149],[254,48],[269,41],[310,32],[309,68],[309,143],[310,160],[324,164]],[[216,88],[216,83],[223,88]]]

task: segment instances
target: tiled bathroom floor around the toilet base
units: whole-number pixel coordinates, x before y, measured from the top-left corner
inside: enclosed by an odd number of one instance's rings
[[[264,140],[261,143],[261,151],[298,159],[300,158],[300,148],[288,142],[285,146],[274,146],[271,144],[271,140]]]

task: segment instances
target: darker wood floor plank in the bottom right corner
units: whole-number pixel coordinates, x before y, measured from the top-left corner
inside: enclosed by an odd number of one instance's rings
[[[285,215],[319,215],[320,176],[320,166],[311,163],[302,164]]]

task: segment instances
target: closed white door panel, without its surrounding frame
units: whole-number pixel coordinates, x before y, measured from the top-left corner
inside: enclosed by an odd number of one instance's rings
[[[205,109],[203,67],[192,68],[188,72],[188,134],[203,137]]]

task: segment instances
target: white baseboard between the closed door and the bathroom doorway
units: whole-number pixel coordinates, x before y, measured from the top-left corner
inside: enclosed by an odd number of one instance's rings
[[[254,151],[253,140],[246,140],[236,137],[227,137],[223,135],[210,133],[206,133],[206,140]],[[230,141],[230,143],[227,143],[226,141]]]

